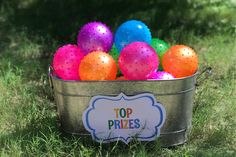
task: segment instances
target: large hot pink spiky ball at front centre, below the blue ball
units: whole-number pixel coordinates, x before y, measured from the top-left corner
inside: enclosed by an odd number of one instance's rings
[[[122,49],[118,63],[125,78],[146,80],[158,69],[159,60],[150,45],[144,42],[133,42]]]

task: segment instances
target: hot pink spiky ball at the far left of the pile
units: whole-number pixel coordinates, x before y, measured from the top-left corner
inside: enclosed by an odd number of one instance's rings
[[[78,69],[84,54],[76,45],[60,47],[53,58],[55,74],[63,80],[80,80]]]

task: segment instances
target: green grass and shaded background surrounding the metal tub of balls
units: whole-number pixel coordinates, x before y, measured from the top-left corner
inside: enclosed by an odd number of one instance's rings
[[[186,145],[103,145],[57,126],[47,76],[55,50],[76,43],[89,21],[115,31],[129,19],[170,45],[193,47],[200,71],[213,68],[198,79]],[[236,156],[235,52],[235,0],[0,0],[0,156]]]

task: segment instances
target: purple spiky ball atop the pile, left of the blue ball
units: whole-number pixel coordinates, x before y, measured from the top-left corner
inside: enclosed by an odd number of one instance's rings
[[[77,44],[86,55],[92,51],[110,51],[113,44],[111,30],[101,22],[90,22],[79,31]]]

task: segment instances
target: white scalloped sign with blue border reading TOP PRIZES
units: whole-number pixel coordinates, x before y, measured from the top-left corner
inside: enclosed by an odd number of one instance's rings
[[[153,141],[164,121],[165,109],[150,93],[94,96],[83,113],[84,127],[97,142]]]

